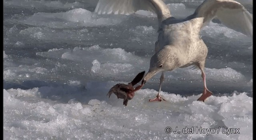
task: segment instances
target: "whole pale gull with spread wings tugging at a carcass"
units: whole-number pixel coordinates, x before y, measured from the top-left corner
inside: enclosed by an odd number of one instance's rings
[[[198,100],[204,101],[212,94],[206,87],[204,64],[208,48],[200,38],[200,30],[213,18],[218,18],[222,24],[252,36],[252,16],[234,0],[205,0],[195,10],[194,14],[184,18],[174,18],[162,0],[100,0],[95,12],[98,14],[131,14],[137,10],[154,11],[158,15],[158,40],[155,44],[155,54],[151,57],[150,68],[144,76],[142,84],[158,72],[160,88],[154,100],[164,100],[160,96],[164,72],[176,68],[196,65],[202,72],[204,93]]]

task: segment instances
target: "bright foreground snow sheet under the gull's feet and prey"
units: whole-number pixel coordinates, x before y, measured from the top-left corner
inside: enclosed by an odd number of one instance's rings
[[[88,83],[86,90],[72,86],[4,90],[4,139],[252,139],[252,98],[246,93],[211,96],[204,103],[196,101],[199,95],[162,92],[168,101],[151,103],[148,99],[156,91],[143,89],[124,107],[116,96],[106,100],[102,94],[112,84]],[[181,134],[166,134],[168,126],[178,127]],[[182,134],[186,127],[216,132]],[[240,128],[240,134],[227,135],[226,128]]]

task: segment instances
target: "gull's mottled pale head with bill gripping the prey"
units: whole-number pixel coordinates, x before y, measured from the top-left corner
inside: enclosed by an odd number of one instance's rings
[[[158,72],[173,70],[176,60],[177,59],[175,59],[175,56],[172,55],[168,47],[156,52],[150,59],[150,67],[148,73],[142,79],[142,84],[145,84]]]

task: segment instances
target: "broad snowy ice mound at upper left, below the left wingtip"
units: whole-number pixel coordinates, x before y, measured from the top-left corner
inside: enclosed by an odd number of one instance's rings
[[[115,25],[122,21],[122,15],[115,15],[112,18],[104,18],[104,15],[97,15],[88,10],[77,8],[68,12],[60,13],[36,13],[24,22],[34,26],[46,26],[50,28],[66,28],[79,26]]]

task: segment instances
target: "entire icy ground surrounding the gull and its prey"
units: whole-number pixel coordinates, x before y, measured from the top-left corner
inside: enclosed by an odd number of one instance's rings
[[[189,67],[166,73],[166,102],[148,102],[157,94],[158,74],[123,106],[106,94],[148,70],[155,14],[97,15],[97,0],[3,2],[4,140],[252,140],[252,38],[218,20],[202,30],[206,82],[214,93],[206,102],[196,101],[200,70]],[[202,3],[165,2],[176,17]],[[252,13],[250,0],[239,2]],[[200,126],[212,134],[196,134]],[[183,134],[186,127],[194,134]],[[240,134],[226,134],[230,128]]]

